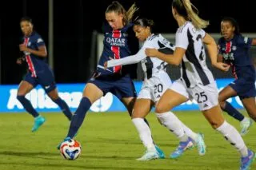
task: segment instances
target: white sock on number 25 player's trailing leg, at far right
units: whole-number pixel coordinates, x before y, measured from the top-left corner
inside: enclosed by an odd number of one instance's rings
[[[247,147],[245,142],[242,140],[242,136],[240,136],[237,129],[235,129],[232,125],[224,121],[224,123],[216,128],[216,130],[221,132],[225,139],[238,149],[242,157],[248,155]]]

